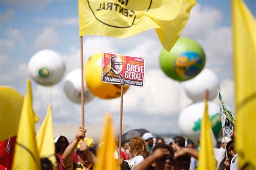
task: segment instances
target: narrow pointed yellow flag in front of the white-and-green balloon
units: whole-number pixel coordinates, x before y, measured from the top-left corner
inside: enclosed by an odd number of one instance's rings
[[[217,162],[213,154],[213,141],[211,135],[211,121],[208,115],[207,100],[205,100],[205,111],[201,122],[200,151],[197,170],[215,170]]]

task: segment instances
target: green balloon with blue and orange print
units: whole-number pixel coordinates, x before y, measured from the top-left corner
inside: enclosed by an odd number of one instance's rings
[[[166,76],[185,81],[199,74],[205,66],[205,53],[193,39],[179,38],[168,52],[163,49],[159,58],[161,69]]]

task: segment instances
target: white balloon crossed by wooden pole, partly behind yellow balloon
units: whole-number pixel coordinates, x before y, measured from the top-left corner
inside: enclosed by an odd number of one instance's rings
[[[69,72],[64,79],[64,92],[66,96],[74,103],[81,103],[81,69],[75,69]],[[84,78],[83,78],[84,80]],[[84,103],[93,99],[92,93],[87,89],[84,81]]]

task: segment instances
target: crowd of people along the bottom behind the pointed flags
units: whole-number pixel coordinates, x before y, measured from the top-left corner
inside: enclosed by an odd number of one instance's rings
[[[93,139],[86,137],[86,130],[79,127],[76,138],[70,144],[64,136],[55,138],[56,168],[64,169],[93,169],[96,165],[98,148]],[[226,142],[226,144],[225,144]],[[225,154],[225,145],[227,154]],[[142,169],[196,169],[198,166],[199,147],[192,140],[181,136],[173,137],[165,142],[163,138],[154,137],[147,132],[122,141],[122,151],[118,157],[118,147],[113,157],[123,170]],[[219,148],[214,148],[214,157],[217,160],[217,169],[238,169],[237,153],[234,149],[234,140],[225,137]],[[44,162],[42,161],[43,169]]]

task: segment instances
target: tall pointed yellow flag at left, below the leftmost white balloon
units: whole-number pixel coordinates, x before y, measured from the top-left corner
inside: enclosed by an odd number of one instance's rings
[[[36,145],[35,117],[32,110],[32,92],[29,79],[26,84],[28,87],[18,125],[12,169],[41,169]]]

